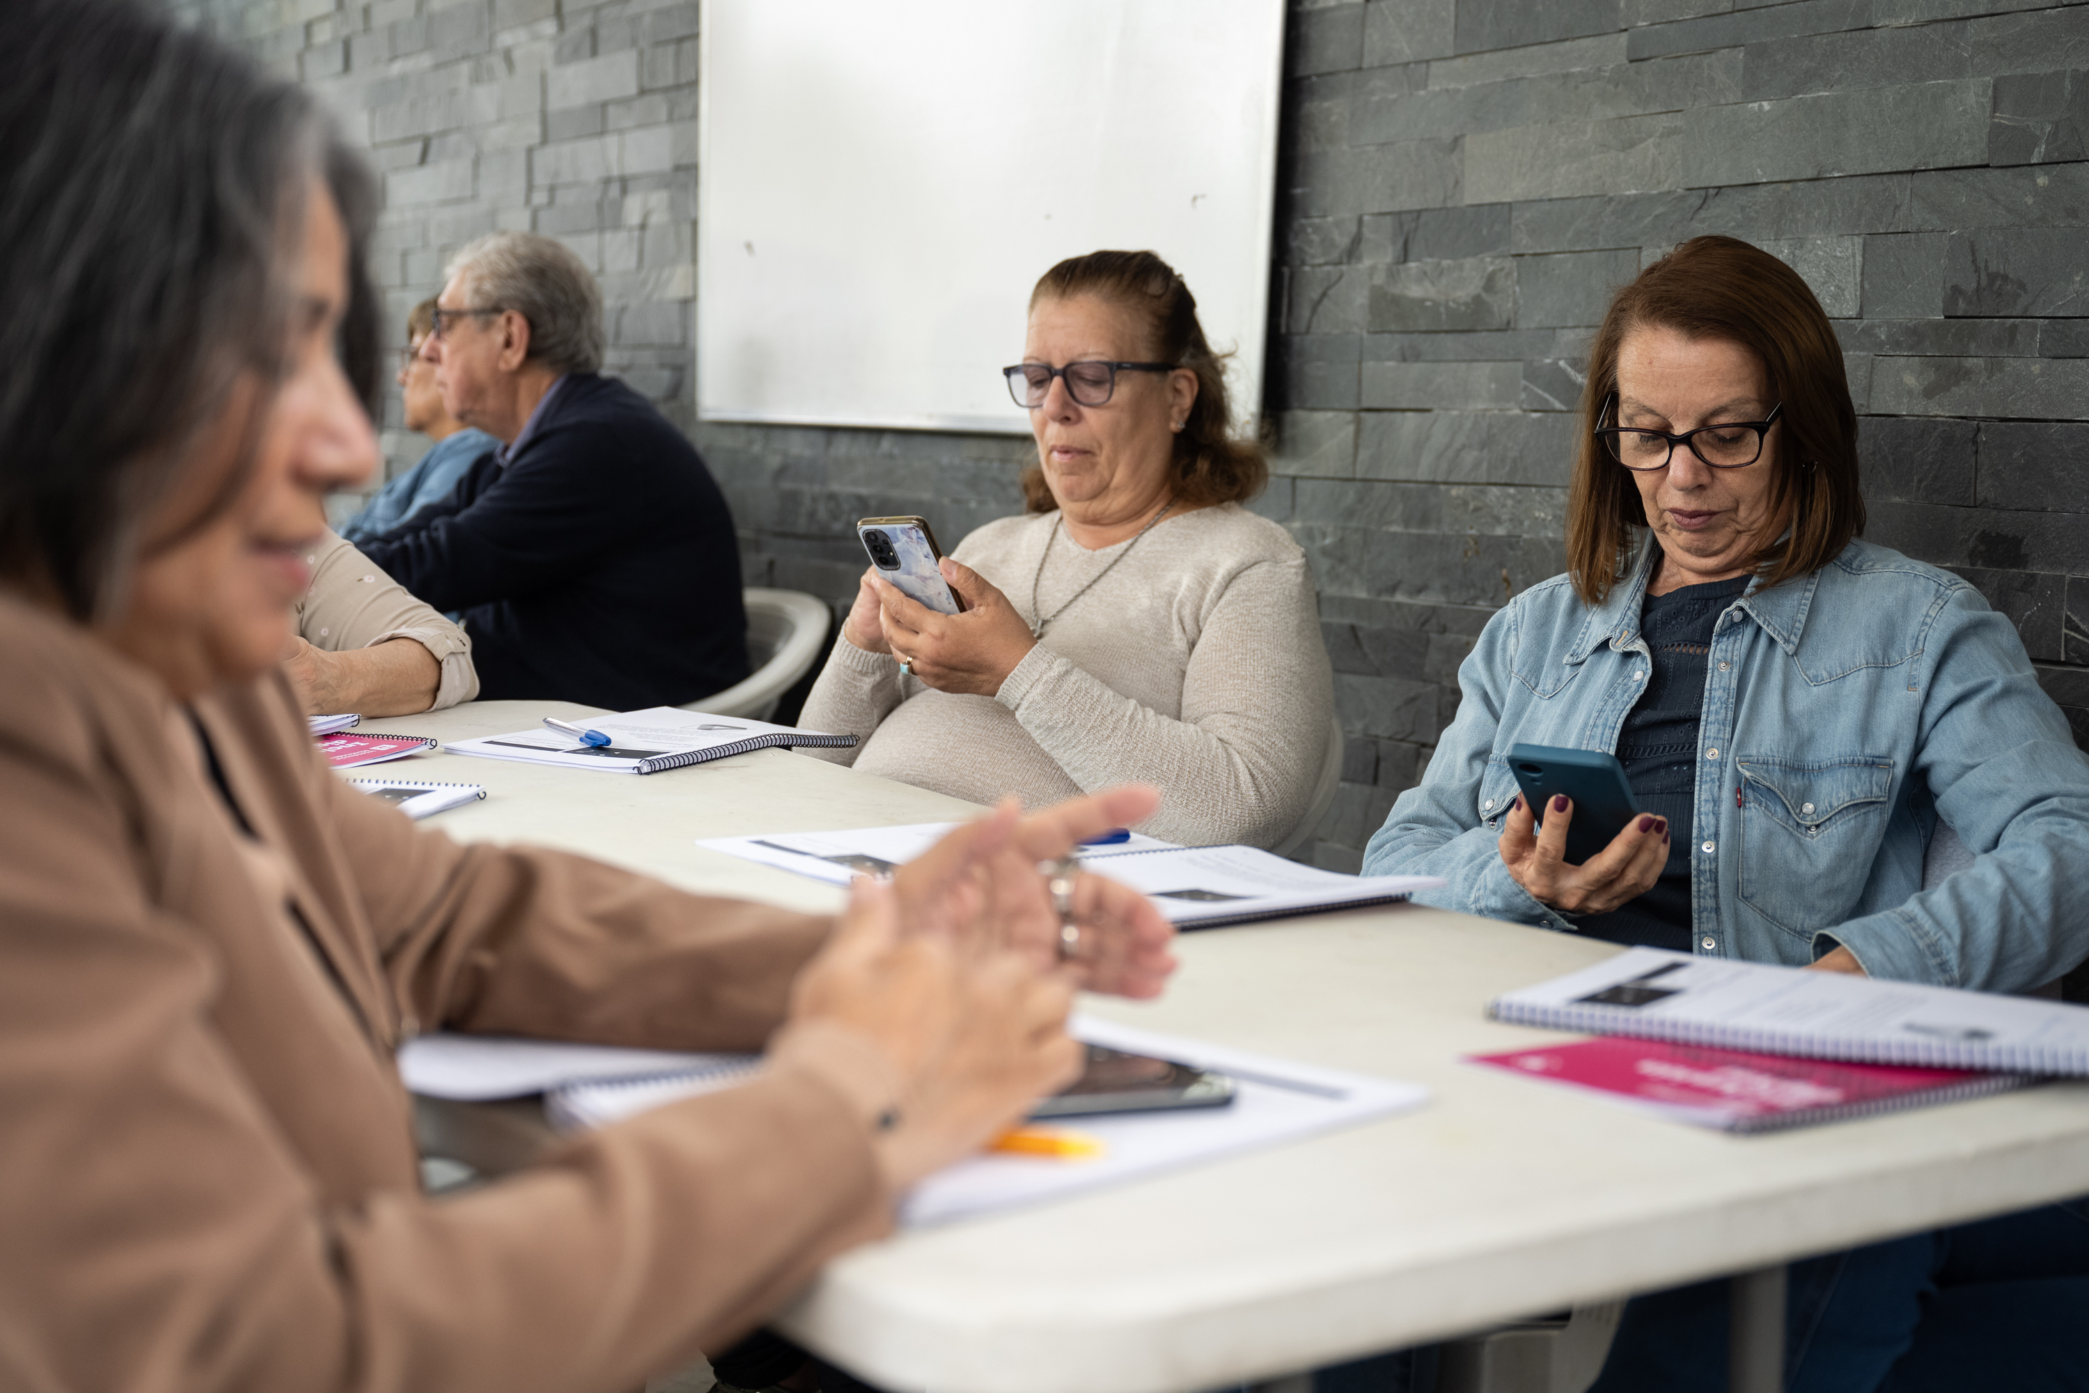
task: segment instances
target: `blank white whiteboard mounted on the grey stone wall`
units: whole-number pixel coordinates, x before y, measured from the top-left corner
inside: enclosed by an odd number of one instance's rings
[[[1251,418],[1283,0],[706,0],[704,420],[1028,432],[1063,257],[1166,257]]]

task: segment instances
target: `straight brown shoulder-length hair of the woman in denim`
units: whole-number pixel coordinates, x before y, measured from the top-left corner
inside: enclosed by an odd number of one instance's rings
[[[1611,299],[1590,345],[1567,495],[1567,574],[1583,601],[1609,597],[1646,528],[1632,472],[1594,434],[1617,393],[1617,351],[1638,328],[1738,343],[1769,374],[1769,399],[1784,405],[1769,501],[1774,510],[1790,507],[1790,537],[1757,553],[1765,587],[1820,570],[1863,533],[1857,409],[1842,347],[1820,301],[1792,267],[1759,246],[1730,236],[1690,238]]]

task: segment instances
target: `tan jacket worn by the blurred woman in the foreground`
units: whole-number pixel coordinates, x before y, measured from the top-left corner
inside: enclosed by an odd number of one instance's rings
[[[430,1201],[416,1028],[754,1048],[829,921],[460,848],[276,672],[192,723],[4,595],[0,654],[0,1389],[620,1393],[888,1224],[890,1080],[836,1028]]]

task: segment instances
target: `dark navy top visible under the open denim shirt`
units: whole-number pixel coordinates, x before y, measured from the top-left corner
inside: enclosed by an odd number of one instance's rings
[[[1690,800],[1696,794],[1698,718],[1705,712],[1705,662],[1719,614],[1753,576],[1684,585],[1648,595],[1640,637],[1654,656],[1646,695],[1617,733],[1617,762],[1640,812],[1669,819],[1669,865],[1652,890],[1606,915],[1579,921],[1581,934],[1613,944],[1690,952]]]

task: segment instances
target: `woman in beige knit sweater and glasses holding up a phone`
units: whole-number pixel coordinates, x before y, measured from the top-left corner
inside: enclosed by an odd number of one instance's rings
[[[802,723],[861,737],[836,762],[1026,806],[1126,779],[1141,825],[1272,846],[1306,814],[1333,675],[1306,556],[1241,503],[1266,478],[1228,439],[1220,359],[1153,253],[1061,261],[1030,297],[1038,464],[1028,512],[965,537],[936,614],[865,570]]]

